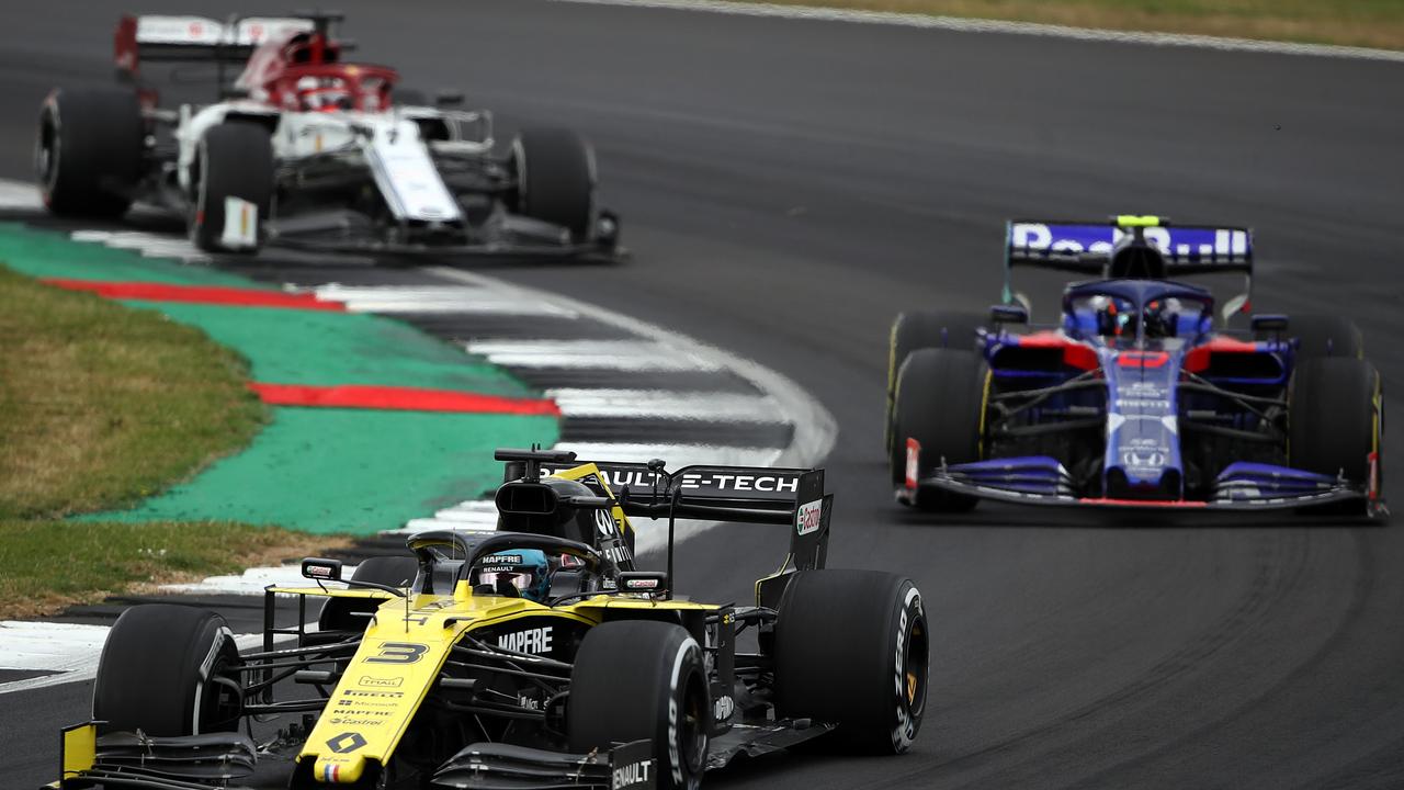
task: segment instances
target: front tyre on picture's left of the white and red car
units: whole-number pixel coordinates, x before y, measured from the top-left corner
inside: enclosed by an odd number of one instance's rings
[[[267,128],[247,121],[225,121],[205,132],[191,173],[194,214],[190,238],[197,247],[205,252],[258,252],[263,224],[272,209],[272,142]],[[253,204],[253,214],[227,215],[229,198]],[[227,239],[226,228],[233,231]]]

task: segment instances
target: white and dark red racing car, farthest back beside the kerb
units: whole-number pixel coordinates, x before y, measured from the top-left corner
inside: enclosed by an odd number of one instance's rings
[[[393,69],[343,59],[352,44],[331,34],[338,21],[124,17],[121,84],[56,89],[44,101],[45,204],[101,218],[133,201],[166,207],[211,252],[616,254],[619,222],[595,202],[587,142],[528,128],[498,155],[490,112],[396,93]],[[174,63],[167,76],[187,82],[208,67],[218,101],[161,107],[149,63]]]

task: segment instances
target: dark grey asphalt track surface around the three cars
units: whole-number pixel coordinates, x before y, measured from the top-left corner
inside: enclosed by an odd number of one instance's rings
[[[889,320],[991,302],[1015,215],[1252,225],[1258,309],[1346,311],[1386,387],[1404,381],[1404,67],[541,0],[341,6],[362,55],[409,84],[594,139],[635,261],[480,268],[809,388],[841,426],[833,564],[910,574],[925,595],[914,753],[765,759],[709,786],[1404,784],[1400,529],[922,517],[892,505],[880,450]],[[90,4],[0,10],[0,176],[27,176],[53,83],[108,79],[111,24]],[[785,540],[713,530],[685,545],[678,586],[744,600]],[[0,700],[0,784],[52,779],[56,728],[87,693]]]

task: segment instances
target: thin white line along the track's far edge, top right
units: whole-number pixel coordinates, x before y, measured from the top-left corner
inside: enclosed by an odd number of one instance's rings
[[[706,11],[741,17],[778,17],[785,20],[819,20],[830,22],[858,22],[899,25],[908,28],[946,30],[955,32],[994,32],[1012,35],[1040,35],[1098,41],[1111,44],[1140,44],[1148,46],[1193,46],[1226,52],[1262,52],[1269,55],[1307,55],[1313,58],[1351,58],[1358,60],[1390,60],[1404,63],[1404,52],[1370,49],[1367,46],[1337,46],[1327,44],[1292,44],[1285,41],[1257,41],[1251,38],[1221,38],[1178,32],[1137,32],[1004,20],[970,20],[929,14],[899,14],[893,11],[855,11],[849,8],[820,8],[813,6],[779,6],[775,3],[743,3],[729,0],[555,0],[585,6],[625,6],[633,8],[670,8],[678,11]]]

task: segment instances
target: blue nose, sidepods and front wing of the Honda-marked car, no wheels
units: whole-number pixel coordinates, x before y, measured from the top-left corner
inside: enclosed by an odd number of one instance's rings
[[[1066,288],[1057,329],[981,330],[988,460],[946,465],[922,458],[908,440],[908,482],[899,498],[911,502],[929,486],[1120,507],[1373,499],[1345,479],[1286,465],[1286,441],[1278,437],[1285,437],[1293,343],[1219,335],[1213,306],[1209,291],[1184,283],[1095,280]]]

